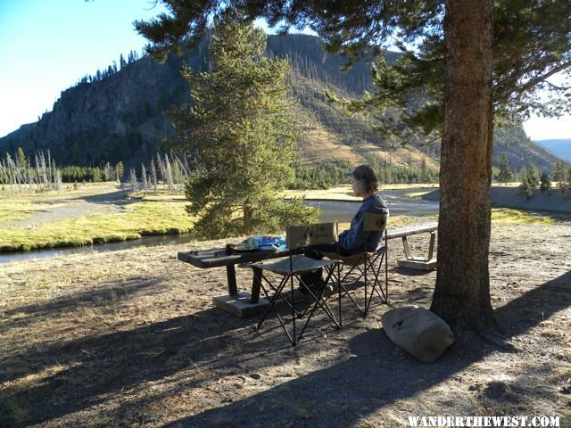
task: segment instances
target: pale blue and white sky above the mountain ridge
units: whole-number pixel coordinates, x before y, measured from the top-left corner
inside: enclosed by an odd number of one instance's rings
[[[0,136],[51,111],[61,92],[119,63],[145,39],[132,22],[162,12],[148,0],[0,0]],[[534,140],[571,138],[571,117],[530,119]]]

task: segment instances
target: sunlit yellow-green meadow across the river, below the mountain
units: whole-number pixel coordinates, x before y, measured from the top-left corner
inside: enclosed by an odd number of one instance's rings
[[[386,185],[383,190],[409,190],[420,197],[435,185]],[[420,191],[422,188],[422,191]],[[285,199],[304,195],[310,200],[352,201],[351,186],[327,190],[285,191]],[[138,239],[145,235],[190,232],[194,219],[186,213],[182,193],[128,193],[112,183],[68,186],[61,192],[0,193],[0,251],[85,246]],[[434,220],[436,216],[424,218]],[[391,218],[391,226],[415,223],[418,217]],[[494,209],[492,221],[550,224],[549,216],[523,210]],[[340,228],[348,228],[340,223]]]

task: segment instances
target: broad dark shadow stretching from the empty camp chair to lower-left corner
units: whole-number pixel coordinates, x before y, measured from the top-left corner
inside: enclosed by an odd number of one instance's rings
[[[145,292],[153,284],[133,285],[128,292]],[[85,292],[77,298],[29,305],[13,309],[12,315],[23,313],[23,321],[18,322],[32,322],[84,301],[96,303],[105,292]],[[258,317],[236,318],[210,308],[126,331],[69,342],[46,340],[46,345],[4,359],[13,370],[0,371],[0,425],[46,423],[97,406],[120,391],[161,382],[180,371],[192,372],[186,386],[199,386],[208,377],[203,375],[206,370],[225,374],[242,372],[246,366],[285,363],[291,358],[292,347],[277,320],[273,321],[263,331],[254,332]],[[325,317],[312,321],[331,328]],[[18,322],[10,327],[17,329]],[[237,351],[246,348],[247,352]],[[39,382],[29,383],[27,379]]]

